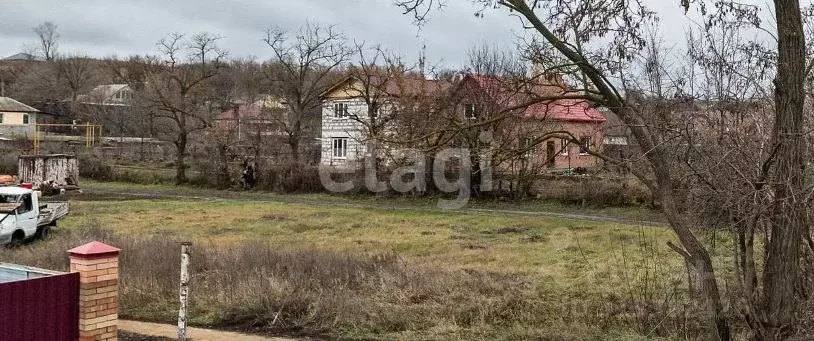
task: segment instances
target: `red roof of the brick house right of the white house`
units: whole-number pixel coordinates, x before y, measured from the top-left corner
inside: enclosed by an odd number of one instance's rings
[[[536,96],[567,95],[566,85],[552,81],[546,84],[520,84],[524,89],[517,89],[517,84],[490,76],[469,74],[466,76],[475,81],[478,87],[487,91],[502,105],[519,105],[532,101]],[[525,82],[524,82],[525,83]],[[539,97],[537,97],[539,98]],[[551,118],[569,122],[605,122],[605,115],[590,106],[585,100],[558,99],[532,104],[525,108],[523,114],[529,117]]]

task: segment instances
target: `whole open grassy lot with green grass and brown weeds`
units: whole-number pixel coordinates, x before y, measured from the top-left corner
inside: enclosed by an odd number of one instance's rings
[[[208,196],[96,201],[91,187],[56,240],[3,260],[57,267],[72,243],[120,246],[125,317],[172,321],[177,243],[191,240],[199,325],[377,340],[684,339],[705,329],[660,227]]]

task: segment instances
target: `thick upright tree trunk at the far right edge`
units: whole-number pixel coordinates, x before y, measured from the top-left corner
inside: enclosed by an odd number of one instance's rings
[[[789,335],[797,307],[795,286],[800,269],[800,246],[806,209],[800,198],[805,186],[806,146],[803,138],[805,38],[797,0],[775,0],[777,18],[777,75],[775,122],[772,139],[777,146],[772,177],[769,244],[763,279],[764,340]]]

